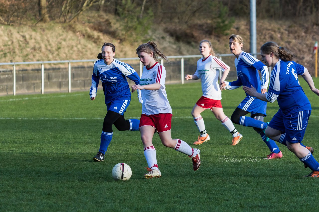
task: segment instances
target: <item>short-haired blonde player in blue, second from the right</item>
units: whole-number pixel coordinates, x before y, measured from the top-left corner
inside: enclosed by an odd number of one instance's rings
[[[229,37],[230,51],[235,55],[235,66],[237,72],[237,80],[233,82],[220,82],[220,89],[236,89],[242,85],[254,85],[258,92],[265,93],[268,87],[269,73],[268,68],[263,65],[261,61],[242,51],[243,39],[239,35],[231,35]],[[260,70],[262,80],[260,81]],[[271,153],[264,159],[281,158],[282,153],[279,150],[276,143],[269,139],[264,130],[267,127],[267,123],[263,122],[263,117],[266,116],[267,102],[256,99],[246,93],[246,98],[237,106],[234,113],[231,116],[231,120],[235,124],[240,124],[246,127],[254,127],[257,133],[260,134],[263,141],[268,146]],[[250,117],[247,115],[250,113]]]

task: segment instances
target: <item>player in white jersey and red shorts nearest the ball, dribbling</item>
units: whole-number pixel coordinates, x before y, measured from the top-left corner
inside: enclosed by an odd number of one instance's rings
[[[152,144],[155,132],[159,133],[164,146],[191,157],[193,169],[196,171],[200,166],[199,149],[193,149],[185,141],[172,139],[171,136],[172,108],[165,90],[166,70],[163,65],[156,62],[160,61],[159,57],[168,61],[167,57],[157,49],[154,42],[139,45],[136,53],[145,65],[140,84],[132,86],[132,92],[141,90],[143,99],[139,130],[149,171],[144,177],[149,179],[162,176],[157,165],[155,147]]]

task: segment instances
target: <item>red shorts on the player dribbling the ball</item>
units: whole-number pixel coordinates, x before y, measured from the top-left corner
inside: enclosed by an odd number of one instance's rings
[[[149,116],[142,114],[138,128],[142,126],[152,126],[159,133],[170,130],[172,125],[172,116],[173,115],[171,113],[159,113]]]

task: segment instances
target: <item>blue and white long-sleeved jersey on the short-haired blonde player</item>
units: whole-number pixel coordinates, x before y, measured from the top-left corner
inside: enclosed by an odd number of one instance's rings
[[[253,85],[257,92],[261,93],[261,89],[268,87],[269,73],[268,68],[260,60],[256,59],[249,53],[242,51],[238,58],[235,58],[235,66],[237,72],[237,80],[229,82],[227,89],[232,90],[243,85],[250,87]],[[260,81],[260,70],[262,80]],[[246,93],[248,96],[248,94]]]

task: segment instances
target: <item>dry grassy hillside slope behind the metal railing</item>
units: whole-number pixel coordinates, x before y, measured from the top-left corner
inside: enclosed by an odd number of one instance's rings
[[[115,26],[115,19],[106,16]],[[113,18],[113,19],[112,19]],[[116,46],[116,57],[136,57],[136,48],[142,41],[120,41],[108,29],[96,27],[96,15],[83,15],[77,22],[61,24],[50,22],[37,25],[1,25],[0,27],[0,62],[47,61],[47,60],[80,60],[95,59],[104,42],[112,42]],[[103,23],[102,23],[103,24]],[[209,39],[217,53],[230,53],[228,37],[239,34],[244,38],[244,50],[249,50],[249,20],[237,19],[233,28],[225,36],[203,36],[200,30],[194,29],[196,40],[176,42],[165,32],[165,24],[153,26],[149,37],[158,44],[164,54],[194,55],[199,54],[198,42]],[[312,48],[318,40],[319,26],[296,24],[293,20],[287,23],[278,20],[258,20],[257,52],[267,41],[275,41],[295,53],[295,60],[314,74],[314,55]],[[190,44],[189,44],[190,43]]]

